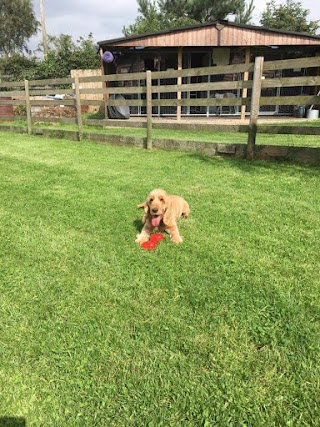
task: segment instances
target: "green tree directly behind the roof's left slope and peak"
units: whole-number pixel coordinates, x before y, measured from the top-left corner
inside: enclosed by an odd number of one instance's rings
[[[229,13],[241,13],[238,22],[247,23],[254,9],[251,1],[246,10],[245,0],[137,0],[137,3],[139,15],[134,24],[123,28],[125,36],[216,21],[225,19]]]

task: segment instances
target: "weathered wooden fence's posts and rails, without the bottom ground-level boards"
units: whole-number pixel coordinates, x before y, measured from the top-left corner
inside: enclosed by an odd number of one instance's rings
[[[248,133],[246,157],[253,159],[255,157],[255,142],[257,132],[261,133],[301,133],[304,134],[320,134],[319,128],[304,128],[301,126],[290,127],[284,129],[283,126],[260,126],[258,125],[258,116],[261,106],[267,105],[282,105],[282,106],[319,106],[320,96],[320,76],[317,75],[317,70],[320,67],[320,57],[288,59],[280,61],[264,61],[263,57],[257,57],[255,63],[236,64],[228,66],[201,67],[193,69],[182,69],[168,71],[146,71],[140,73],[127,74],[111,74],[105,76],[87,76],[74,78],[59,78],[45,80],[25,80],[20,82],[0,82],[0,120],[4,121],[8,118],[1,108],[6,106],[19,106],[25,111],[25,115],[20,118],[26,119],[27,132],[33,132],[33,124],[43,121],[62,121],[64,119],[37,118],[32,114],[34,107],[63,105],[73,107],[76,110],[75,119],[69,119],[68,122],[77,124],[78,139],[83,138],[83,125],[101,125],[101,126],[128,126],[128,127],[146,127],[146,147],[151,149],[153,146],[152,129],[153,127],[163,128],[179,128],[179,129],[219,129],[219,131],[240,131]],[[312,70],[306,73],[305,76],[298,77],[280,77],[282,70],[288,69],[306,69]],[[268,72],[279,72],[279,77],[267,78]],[[218,75],[238,75],[241,79],[234,81],[215,81],[215,82],[200,82],[190,83],[190,78],[204,77],[210,80],[208,76]],[[266,74],[266,76],[264,75]],[[309,75],[308,75],[309,74]],[[162,79],[175,79],[176,84],[164,84],[159,82]],[[88,83],[100,83],[99,88],[88,88]],[[138,82],[138,84],[137,84]],[[86,87],[82,88],[82,84]],[[307,88],[309,92],[314,94],[295,95],[295,96],[263,96],[262,91],[274,88]],[[216,93],[226,93],[226,91],[237,91],[241,95],[239,97],[216,97]],[[206,94],[190,99],[190,93]],[[59,93],[63,95],[63,99],[54,99],[53,94]],[[111,95],[122,95],[124,99],[113,99]],[[173,96],[171,99],[164,99],[164,94]],[[46,98],[51,95],[50,98]],[[249,95],[249,96],[248,96]],[[97,98],[100,99],[90,99]],[[88,99],[89,97],[89,99]],[[86,98],[86,99],[85,99]],[[82,108],[84,106],[95,107],[140,107],[145,108],[146,123],[131,121],[131,120],[89,120],[84,119]],[[154,121],[153,109],[161,107],[175,107],[176,119],[172,120],[171,124]],[[247,110],[249,116],[249,124],[243,125],[215,125],[214,117],[210,118],[212,124],[197,123],[191,124],[187,121],[181,121],[181,109],[195,107],[236,107],[241,109],[241,117],[244,117],[244,112]],[[115,123],[117,122],[117,123]],[[0,127],[1,129],[1,127]]]

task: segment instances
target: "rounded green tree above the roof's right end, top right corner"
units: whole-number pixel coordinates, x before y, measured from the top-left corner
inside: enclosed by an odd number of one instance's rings
[[[275,0],[271,0],[262,13],[260,24],[281,30],[316,34],[320,20],[308,22],[308,15],[309,10],[304,9],[299,1],[285,0],[277,5]]]

